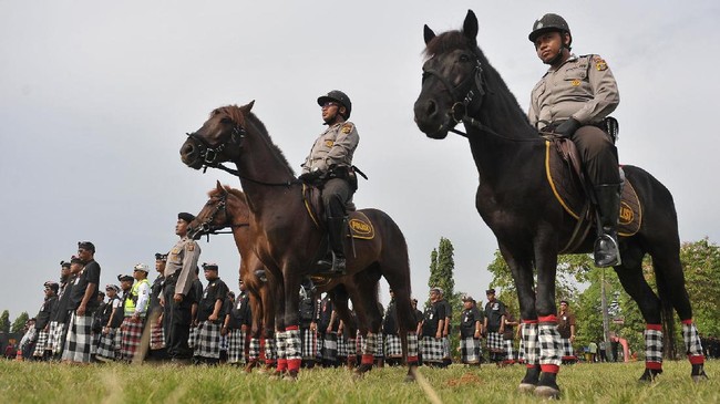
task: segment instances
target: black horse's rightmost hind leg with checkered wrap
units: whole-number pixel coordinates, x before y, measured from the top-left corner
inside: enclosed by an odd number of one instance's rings
[[[680,263],[679,246],[677,249],[654,248],[651,251],[652,265],[661,300],[670,300],[682,323],[682,340],[688,360],[692,365],[692,380],[699,382],[707,379],[704,373],[704,354],[700,342],[700,334],[692,321],[692,307],[688,291],[685,288],[685,274]],[[672,323],[668,318],[667,323]],[[671,331],[671,330],[670,330]]]

